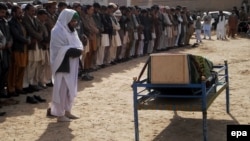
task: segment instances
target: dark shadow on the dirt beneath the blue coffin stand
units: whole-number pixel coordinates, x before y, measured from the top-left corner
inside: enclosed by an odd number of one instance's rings
[[[231,114],[229,116],[232,120],[207,119],[207,137],[209,141],[227,140],[227,125],[239,124]],[[202,141],[202,123],[202,118],[184,118],[175,114],[171,119],[171,123],[153,141]]]

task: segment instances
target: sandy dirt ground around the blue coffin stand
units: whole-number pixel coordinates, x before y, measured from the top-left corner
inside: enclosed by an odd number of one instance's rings
[[[214,64],[229,64],[230,114],[226,113],[225,91],[208,110],[209,141],[226,141],[226,125],[250,124],[250,40],[246,38],[218,41],[204,40],[197,48],[179,48],[168,52],[204,56]],[[191,43],[194,43],[194,39]],[[26,95],[17,105],[0,111],[1,141],[133,141],[132,78],[139,75],[146,56],[110,66],[96,72],[94,81],[79,80],[79,91],[73,113],[80,119],[58,123],[46,117],[52,88],[29,94],[40,95],[47,103],[25,103]],[[146,77],[144,75],[144,77]],[[201,141],[202,113],[173,111],[139,111],[142,141]]]

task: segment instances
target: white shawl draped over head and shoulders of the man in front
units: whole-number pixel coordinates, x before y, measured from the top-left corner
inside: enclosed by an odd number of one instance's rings
[[[55,73],[60,66],[64,55],[69,48],[83,50],[82,42],[80,41],[76,30],[72,32],[68,27],[68,24],[75,13],[77,13],[75,10],[64,9],[51,31],[50,62],[52,64],[51,67],[53,73]],[[62,42],[64,43],[60,45]]]

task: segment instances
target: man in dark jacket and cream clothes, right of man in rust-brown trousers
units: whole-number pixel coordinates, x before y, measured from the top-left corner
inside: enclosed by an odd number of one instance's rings
[[[23,24],[31,39],[28,48],[28,66],[24,76],[23,85],[27,91],[39,91],[43,88],[38,86],[38,69],[42,62],[42,50],[38,46],[38,42],[43,40],[42,29],[38,26],[38,21],[35,17],[36,9],[33,5],[25,6],[25,14]]]

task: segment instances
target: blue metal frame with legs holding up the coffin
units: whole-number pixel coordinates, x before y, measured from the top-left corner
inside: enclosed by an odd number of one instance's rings
[[[134,99],[134,126],[135,126],[135,140],[139,141],[139,118],[138,118],[138,110],[146,109],[143,105],[140,105],[141,101],[144,101],[148,98],[181,98],[181,99],[200,99],[202,104],[200,105],[200,109],[185,110],[185,111],[201,111],[203,118],[203,141],[207,141],[207,110],[209,106],[213,103],[216,97],[226,89],[226,111],[229,113],[229,77],[228,77],[228,65],[227,61],[224,61],[224,65],[218,65],[213,67],[214,70],[218,73],[218,82],[213,84],[210,88],[206,87],[206,81],[201,84],[149,84],[147,83],[147,79],[142,81],[134,81],[133,87],[133,99]],[[201,89],[201,95],[172,95],[172,94],[164,94],[159,95],[154,93],[152,90],[155,87],[176,87],[176,88],[199,88]],[[142,89],[142,90],[141,90]],[[214,89],[217,89],[215,92]],[[139,91],[140,90],[140,91]],[[146,94],[145,94],[146,93]],[[213,98],[208,101],[211,95],[214,95]],[[161,107],[161,106],[159,106]],[[153,106],[150,110],[159,110],[159,107]],[[183,109],[174,108],[165,109],[165,110],[174,110],[174,111],[183,111]],[[147,107],[148,108],[148,107]],[[164,110],[164,109],[160,109]]]

